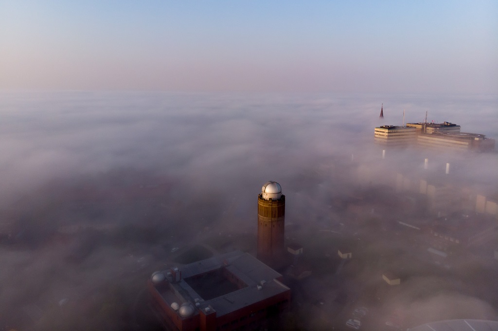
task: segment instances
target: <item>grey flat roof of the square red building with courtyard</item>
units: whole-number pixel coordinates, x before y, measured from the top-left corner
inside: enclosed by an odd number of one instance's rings
[[[218,317],[290,291],[278,272],[239,250],[177,267],[181,280],[156,286],[163,300],[168,305],[199,303],[199,309],[211,306]]]

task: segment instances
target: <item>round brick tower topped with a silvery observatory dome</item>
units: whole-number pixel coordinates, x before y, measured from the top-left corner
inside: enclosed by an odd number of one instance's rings
[[[274,266],[284,255],[285,195],[280,184],[267,181],[257,197],[257,258]]]

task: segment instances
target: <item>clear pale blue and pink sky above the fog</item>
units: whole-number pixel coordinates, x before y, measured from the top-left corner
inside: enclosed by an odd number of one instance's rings
[[[496,1],[0,1],[1,90],[498,91]]]

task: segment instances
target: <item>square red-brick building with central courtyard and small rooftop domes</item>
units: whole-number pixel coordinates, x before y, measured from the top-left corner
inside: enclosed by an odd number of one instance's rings
[[[233,251],[156,271],[148,281],[156,311],[170,330],[254,330],[290,304],[282,275]]]

